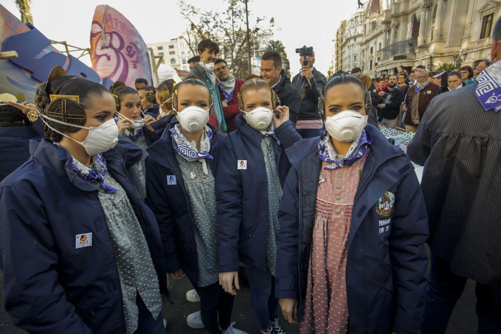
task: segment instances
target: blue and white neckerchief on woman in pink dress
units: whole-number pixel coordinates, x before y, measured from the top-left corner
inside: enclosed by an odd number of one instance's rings
[[[332,162],[324,167],[326,170],[336,169],[338,167],[349,166],[358,159],[362,158],[367,152],[368,145],[372,144],[372,138],[367,131],[367,127],[362,130],[360,136],[353,141],[346,156],[342,160],[336,158],[337,154],[332,146],[329,133],[323,131],[318,142],[318,156],[322,161]]]

